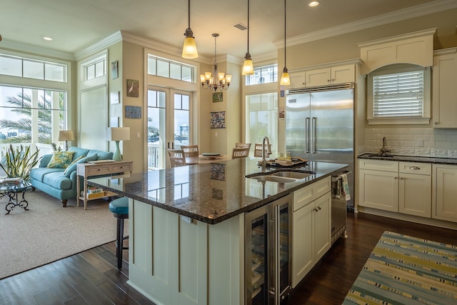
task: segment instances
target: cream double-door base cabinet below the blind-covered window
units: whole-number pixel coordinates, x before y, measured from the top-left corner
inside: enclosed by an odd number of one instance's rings
[[[359,205],[431,217],[431,164],[359,160]]]

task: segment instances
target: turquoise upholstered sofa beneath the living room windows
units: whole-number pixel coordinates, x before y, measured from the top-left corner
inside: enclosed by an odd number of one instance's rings
[[[75,146],[71,146],[68,151],[74,151],[72,159],[74,162],[68,168],[49,169],[47,166],[49,161],[51,161],[52,154],[46,154],[41,157],[39,167],[30,171],[31,185],[36,189],[44,191],[46,194],[60,199],[62,206],[66,206],[68,199],[76,198],[76,194],[81,191],[76,191],[76,164],[113,159],[113,153],[111,151],[81,149]],[[82,182],[82,177],[80,180]]]

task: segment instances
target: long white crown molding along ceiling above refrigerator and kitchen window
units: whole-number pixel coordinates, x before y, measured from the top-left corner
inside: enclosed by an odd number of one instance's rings
[[[313,31],[308,34],[290,37],[286,39],[286,44],[287,46],[304,44],[306,42],[316,41],[319,39],[326,39],[333,36],[348,34],[353,31],[369,29],[375,26],[382,26],[384,24],[391,24],[392,22],[402,21],[406,19],[411,19],[456,8],[456,0],[436,0],[428,4],[421,4],[418,6],[409,7],[408,9],[400,9],[392,13],[383,14],[372,18],[366,18],[359,21],[350,22],[348,24],[341,24],[339,26],[332,26],[330,28],[322,29],[320,31]],[[273,44],[278,49],[283,48],[284,40],[282,39],[273,41]]]

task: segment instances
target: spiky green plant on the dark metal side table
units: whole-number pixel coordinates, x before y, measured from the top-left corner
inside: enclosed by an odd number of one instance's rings
[[[13,148],[10,144],[5,154],[5,161],[0,164],[8,178],[30,179],[30,170],[38,164],[39,149],[30,154],[30,146]]]

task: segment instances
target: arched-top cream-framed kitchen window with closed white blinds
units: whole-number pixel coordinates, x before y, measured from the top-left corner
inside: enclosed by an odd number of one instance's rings
[[[428,124],[430,68],[392,65],[368,74],[368,124]]]

